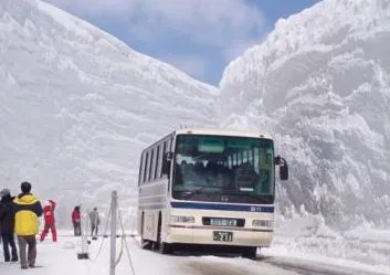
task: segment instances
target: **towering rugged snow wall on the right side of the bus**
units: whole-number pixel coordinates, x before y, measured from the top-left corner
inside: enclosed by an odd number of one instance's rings
[[[281,210],[327,224],[390,224],[390,1],[325,0],[233,61],[220,83],[224,125],[276,138],[291,162]]]

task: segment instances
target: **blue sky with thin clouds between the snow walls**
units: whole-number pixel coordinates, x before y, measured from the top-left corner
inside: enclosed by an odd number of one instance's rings
[[[319,0],[45,0],[134,50],[218,85],[224,67],[280,18]]]

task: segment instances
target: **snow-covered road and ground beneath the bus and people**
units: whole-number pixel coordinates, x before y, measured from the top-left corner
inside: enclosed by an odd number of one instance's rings
[[[98,254],[99,247],[103,246]],[[117,239],[117,254],[122,251],[120,239]],[[186,255],[160,255],[154,251],[143,250],[137,239],[127,239],[130,258],[136,275],[247,275],[247,274],[320,274],[320,275],[373,275],[387,274],[369,268],[340,266],[324,261],[306,261],[299,257],[277,255],[277,250],[265,250],[256,261],[233,256],[211,256],[186,253]],[[70,234],[61,234],[57,243],[48,239],[38,244],[36,268],[23,271],[25,274],[55,275],[103,275],[109,274],[109,239],[92,241],[89,260],[77,260],[81,252],[81,239]],[[19,264],[0,263],[1,274],[20,275]],[[117,275],[131,274],[130,261],[124,247],[122,258],[116,269]]]

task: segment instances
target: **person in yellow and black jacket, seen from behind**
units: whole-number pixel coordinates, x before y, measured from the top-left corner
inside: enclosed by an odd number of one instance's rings
[[[35,195],[31,193],[31,183],[20,184],[22,192],[13,200],[15,211],[14,232],[19,243],[19,260],[22,269],[35,266],[36,240],[39,233],[39,220],[42,215],[42,205]],[[25,248],[29,246],[28,255]]]

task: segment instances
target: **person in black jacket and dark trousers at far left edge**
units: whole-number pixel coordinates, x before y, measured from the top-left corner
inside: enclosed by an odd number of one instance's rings
[[[6,262],[18,262],[18,250],[13,236],[14,226],[14,209],[10,190],[3,189],[0,192],[1,207],[0,207],[0,224],[1,224],[1,239],[4,251]],[[11,254],[10,250],[11,247]]]

